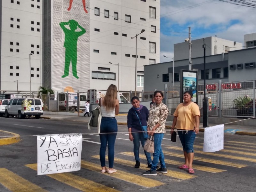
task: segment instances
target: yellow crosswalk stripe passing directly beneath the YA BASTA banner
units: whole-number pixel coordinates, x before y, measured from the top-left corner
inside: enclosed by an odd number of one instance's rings
[[[27,164],[25,165],[35,171],[37,171],[37,164]],[[118,192],[118,190],[101,185],[100,183],[93,182],[91,180],[85,179],[83,177],[79,177],[72,173],[57,173],[57,174],[48,174],[48,177],[65,183],[73,188],[77,188],[81,191],[90,191],[90,192],[100,192],[100,191],[108,191],[108,192]],[[37,191],[37,190],[34,190]]]

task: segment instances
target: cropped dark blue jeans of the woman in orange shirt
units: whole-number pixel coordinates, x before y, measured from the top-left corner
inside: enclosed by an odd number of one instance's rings
[[[193,145],[196,138],[196,132],[194,132],[194,130],[184,131],[178,129],[178,135],[183,146],[183,151],[186,151],[187,153],[194,153]]]

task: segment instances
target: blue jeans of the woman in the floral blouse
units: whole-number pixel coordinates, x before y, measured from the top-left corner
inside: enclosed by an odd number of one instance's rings
[[[160,161],[161,168],[166,168],[165,162],[164,162],[164,154],[162,151],[162,140],[164,138],[164,133],[154,133],[154,153],[153,153],[153,161],[151,166],[151,171],[156,170],[156,165],[158,164],[158,161]]]

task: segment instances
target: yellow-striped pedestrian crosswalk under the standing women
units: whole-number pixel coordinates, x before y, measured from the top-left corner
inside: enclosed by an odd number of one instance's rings
[[[100,157],[99,155],[92,155],[88,156],[88,159],[86,158],[86,160],[81,160],[80,172],[48,174],[44,176],[40,175],[37,176],[37,179],[40,180],[40,178],[47,177],[48,179],[51,179],[53,183],[62,183],[79,191],[117,192],[123,191],[122,189],[124,187],[131,188],[131,190],[133,188],[140,188],[140,190],[145,190],[146,188],[159,188],[164,185],[169,185],[171,182],[193,180],[195,178],[200,178],[200,176],[205,174],[211,177],[213,176],[212,174],[225,173],[230,169],[239,170],[248,166],[249,164],[256,163],[256,155],[254,153],[256,149],[255,143],[227,141],[224,143],[223,150],[214,153],[203,152],[202,145],[198,144],[194,145],[195,157],[193,168],[195,169],[196,173],[188,174],[186,170],[181,170],[178,168],[179,165],[184,163],[182,148],[174,145],[163,145],[162,148],[168,173],[161,174],[160,177],[148,177],[141,175],[141,172],[148,170],[146,164],[147,161],[144,154],[140,154],[140,168],[135,169],[133,152],[122,151],[116,152],[114,166],[117,169],[117,172],[113,174],[100,173]],[[106,159],[108,158],[106,157]],[[24,167],[33,173],[30,175],[31,178],[36,177],[36,163],[25,164]],[[49,190],[49,188],[43,186],[40,182],[35,184],[32,181],[33,179],[29,177],[25,178],[24,175],[22,176],[19,175],[19,172],[15,172],[14,170],[8,170],[8,168],[0,168],[0,184],[4,186],[6,191],[54,191]],[[114,183],[119,184],[114,185]],[[122,185],[120,183],[122,183]]]

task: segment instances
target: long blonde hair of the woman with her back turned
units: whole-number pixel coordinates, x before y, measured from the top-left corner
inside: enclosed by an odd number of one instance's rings
[[[116,98],[117,97],[117,88],[116,85],[109,85],[107,93],[104,97],[102,105],[106,107],[107,111],[113,110],[115,108]]]

